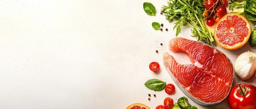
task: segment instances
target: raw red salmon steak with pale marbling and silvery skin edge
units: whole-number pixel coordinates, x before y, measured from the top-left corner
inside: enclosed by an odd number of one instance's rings
[[[202,42],[176,37],[169,50],[186,53],[192,64],[179,64],[172,55],[163,54],[163,62],[177,86],[203,106],[220,104],[229,94],[234,69],[228,57]]]

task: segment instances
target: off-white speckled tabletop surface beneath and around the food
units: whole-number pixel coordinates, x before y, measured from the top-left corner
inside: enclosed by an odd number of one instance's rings
[[[144,12],[143,2],[155,5],[156,16]],[[168,50],[174,22],[159,14],[162,5],[167,0],[1,0],[0,109],[125,109],[133,103],[155,109],[166,97],[177,102],[185,94],[164,68],[163,52],[181,64],[189,58]],[[163,31],[153,30],[152,22],[163,23]],[[196,40],[191,29],[183,27],[178,37]],[[233,64],[239,54],[256,52],[248,43],[239,50],[216,48]],[[153,61],[158,74],[148,68]],[[175,94],[147,89],[144,83],[153,78],[174,84]],[[233,86],[254,80],[235,75]],[[189,102],[198,109],[228,108],[226,99],[215,107]]]

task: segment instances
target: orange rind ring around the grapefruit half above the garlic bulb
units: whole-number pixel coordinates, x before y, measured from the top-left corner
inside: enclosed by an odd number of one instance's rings
[[[227,17],[228,17],[228,16],[231,16],[231,15],[237,15],[238,17],[242,18],[242,19],[245,21],[245,23],[246,23],[246,27],[248,28],[248,35],[245,37],[244,41],[241,42],[241,43],[237,43],[237,44],[235,44],[234,46],[224,45],[222,42],[220,42],[220,41],[218,40],[218,37],[217,37],[217,31],[218,31],[217,28],[218,28],[219,23],[221,23],[223,20],[227,20]],[[247,41],[248,41],[249,38],[250,38],[250,35],[251,35],[251,26],[250,26],[248,20],[247,20],[244,16],[239,15],[239,14],[235,14],[235,13],[229,13],[229,14],[227,14],[227,15],[224,15],[224,16],[217,22],[217,24],[216,24],[216,26],[215,26],[215,29],[214,29],[214,40],[216,41],[216,43],[217,43],[218,45],[220,45],[221,47],[223,47],[224,49],[227,49],[227,50],[236,50],[236,49],[241,48],[242,46],[244,46],[244,45],[247,43]]]

